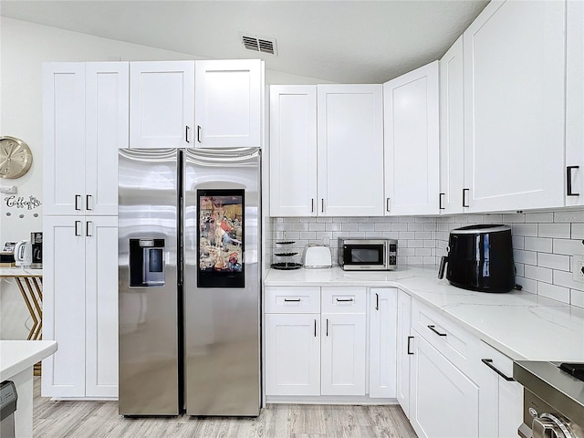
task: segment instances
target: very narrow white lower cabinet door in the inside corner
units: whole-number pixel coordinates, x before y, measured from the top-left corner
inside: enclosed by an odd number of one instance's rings
[[[406,417],[410,418],[412,297],[398,290],[397,307],[397,399]]]

